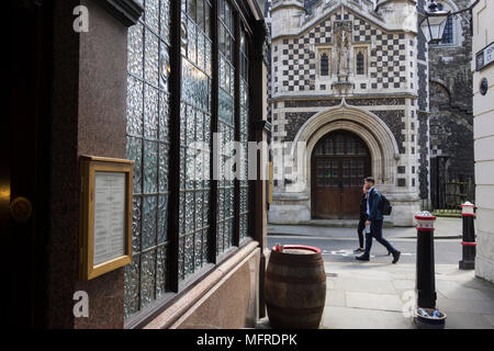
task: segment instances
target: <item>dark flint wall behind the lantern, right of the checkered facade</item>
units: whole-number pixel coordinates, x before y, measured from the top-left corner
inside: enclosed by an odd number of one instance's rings
[[[444,1],[453,10],[468,0]],[[467,16],[467,18],[465,18]],[[452,19],[452,43],[429,45],[430,197],[435,208],[452,206],[446,183],[474,181],[472,114],[472,37],[469,14]],[[448,189],[448,192],[453,192]],[[462,191],[468,193],[467,189]],[[473,192],[469,200],[474,201]],[[459,200],[460,201],[460,200]]]

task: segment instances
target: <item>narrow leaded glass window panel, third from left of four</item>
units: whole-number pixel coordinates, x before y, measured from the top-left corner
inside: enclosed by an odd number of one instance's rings
[[[235,137],[235,34],[234,13],[226,0],[218,0],[218,181],[217,181],[217,254],[233,246],[234,239],[234,147]]]

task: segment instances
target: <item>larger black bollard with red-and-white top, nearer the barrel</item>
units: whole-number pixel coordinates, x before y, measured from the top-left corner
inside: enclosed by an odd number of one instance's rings
[[[434,267],[434,223],[436,217],[428,212],[415,216],[417,219],[417,307],[436,308],[436,272]]]

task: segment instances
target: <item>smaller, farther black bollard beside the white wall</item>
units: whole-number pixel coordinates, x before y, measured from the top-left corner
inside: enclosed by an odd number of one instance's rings
[[[463,259],[460,261],[460,270],[474,270],[476,242],[475,242],[475,205],[467,202],[461,205],[461,216],[463,217]]]

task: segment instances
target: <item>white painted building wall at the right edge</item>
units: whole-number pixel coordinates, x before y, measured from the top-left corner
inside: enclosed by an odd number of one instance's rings
[[[493,18],[493,1],[481,0],[473,9],[473,57],[494,42]],[[484,78],[489,81],[486,95],[479,89]],[[494,282],[494,65],[473,73],[473,115],[479,242],[475,273]]]

